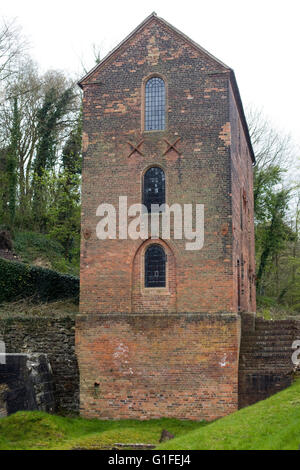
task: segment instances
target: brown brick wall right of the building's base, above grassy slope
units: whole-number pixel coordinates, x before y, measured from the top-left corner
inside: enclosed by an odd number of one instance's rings
[[[268,321],[241,314],[239,408],[288,387],[293,380],[292,344],[300,339],[300,320]]]

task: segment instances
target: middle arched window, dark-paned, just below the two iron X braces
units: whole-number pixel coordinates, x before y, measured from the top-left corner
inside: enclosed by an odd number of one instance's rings
[[[165,172],[153,166],[144,175],[143,204],[151,212],[151,204],[165,204]]]

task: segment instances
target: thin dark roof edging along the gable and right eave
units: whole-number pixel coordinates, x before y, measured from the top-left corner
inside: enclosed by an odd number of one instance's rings
[[[91,77],[93,75],[93,73],[96,71],[96,70],[99,70],[101,69],[108,61],[109,59],[115,54],[117,53],[117,51],[119,51],[119,49],[121,49],[124,45],[126,45],[126,43],[128,43],[131,38],[133,36],[135,36],[139,31],[141,31],[147,24],[149,24],[150,22],[152,21],[157,21],[158,23],[166,26],[167,28],[171,29],[171,31],[173,33],[175,33],[177,36],[179,36],[181,39],[184,39],[186,42],[188,42],[190,45],[192,45],[194,48],[196,48],[198,51],[202,52],[203,54],[205,54],[206,56],[208,56],[210,59],[212,59],[214,62],[216,62],[216,64],[218,64],[219,66],[223,67],[225,70],[224,72],[228,72],[229,73],[229,76],[230,76],[230,81],[231,81],[231,85],[232,85],[232,89],[233,89],[233,92],[234,92],[234,95],[235,95],[235,98],[236,98],[236,102],[237,102],[237,105],[238,105],[238,108],[239,108],[239,112],[240,112],[240,118],[241,118],[241,122],[242,122],[242,125],[243,125],[243,129],[244,129],[244,132],[245,132],[245,136],[246,136],[246,139],[247,139],[247,143],[248,143],[248,147],[249,147],[249,151],[250,151],[250,155],[251,155],[251,158],[252,158],[252,161],[253,163],[255,163],[255,156],[254,156],[254,152],[253,152],[253,148],[252,148],[252,144],[251,144],[251,139],[250,139],[250,135],[249,135],[249,129],[248,129],[248,125],[247,125],[247,122],[246,122],[246,118],[245,118],[245,113],[244,113],[244,109],[243,109],[243,105],[242,105],[242,100],[241,100],[241,97],[240,97],[240,93],[239,93],[239,89],[238,89],[238,86],[237,86],[237,82],[236,82],[236,78],[235,78],[235,75],[234,75],[234,71],[228,67],[226,64],[224,64],[223,62],[221,62],[219,59],[217,59],[216,57],[214,57],[212,54],[210,54],[210,52],[206,51],[203,47],[201,47],[199,44],[197,44],[195,41],[193,41],[192,39],[190,39],[188,36],[186,36],[184,33],[182,33],[181,31],[179,31],[177,28],[175,28],[173,25],[171,25],[170,23],[168,23],[166,20],[164,20],[163,18],[160,18],[157,16],[157,14],[155,12],[151,13],[151,15],[147,16],[147,18],[142,21],[142,23],[140,23],[128,36],[126,36],[125,39],[123,39],[123,41],[121,41],[112,51],[110,51],[100,62],[99,64],[95,65],[95,67],[93,67],[90,72],[88,72],[79,82],[78,82],[78,85],[80,86],[80,88],[83,88],[83,85],[84,85],[84,82],[86,80],[89,79],[89,77]]]

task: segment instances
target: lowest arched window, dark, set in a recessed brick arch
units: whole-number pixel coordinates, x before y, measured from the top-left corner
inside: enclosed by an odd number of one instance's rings
[[[150,245],[146,250],[145,287],[166,287],[166,255],[160,245]]]

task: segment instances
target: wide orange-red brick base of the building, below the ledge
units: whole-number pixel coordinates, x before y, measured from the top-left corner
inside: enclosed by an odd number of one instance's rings
[[[232,413],[239,343],[234,314],[78,315],[81,414],[213,420]]]

